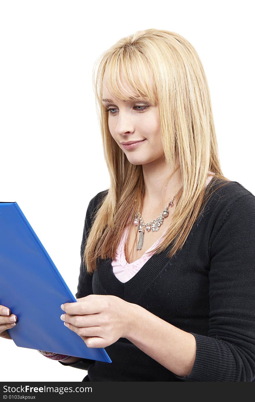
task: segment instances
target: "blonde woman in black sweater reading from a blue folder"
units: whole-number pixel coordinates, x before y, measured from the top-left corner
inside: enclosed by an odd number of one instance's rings
[[[83,381],[253,381],[255,197],[223,176],[195,49],[138,31],[94,83],[110,188],[88,205],[61,317],[112,363],[48,357]]]

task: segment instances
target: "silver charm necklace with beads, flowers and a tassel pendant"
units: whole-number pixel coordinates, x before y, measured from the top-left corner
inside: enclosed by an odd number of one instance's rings
[[[182,188],[182,186],[180,187],[180,189]],[[177,193],[179,193],[180,189],[177,191]],[[176,194],[177,194],[176,193]],[[175,195],[176,195],[175,194]],[[163,221],[164,219],[168,216],[168,208],[169,206],[172,207],[173,206],[173,200],[175,199],[175,195],[173,196],[173,198],[169,201],[169,203],[167,204],[167,206],[165,207],[165,209],[163,209],[163,211],[160,213],[160,215],[154,219],[151,222],[148,222],[147,224],[145,224],[143,222],[143,218],[140,216],[140,211],[137,212],[134,216],[134,225],[137,226],[139,223],[139,219],[140,219],[140,224],[139,224],[139,240],[137,243],[137,250],[141,250],[143,247],[143,235],[144,235],[144,227],[146,232],[149,232],[150,230],[152,230],[153,232],[157,232],[159,230],[159,227],[161,225],[163,225]]]

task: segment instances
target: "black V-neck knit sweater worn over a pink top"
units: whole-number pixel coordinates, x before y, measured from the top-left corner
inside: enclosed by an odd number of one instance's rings
[[[215,178],[212,184],[218,187]],[[88,205],[81,257],[94,212],[107,191]],[[154,254],[126,283],[115,277],[110,258],[100,258],[93,275],[84,273],[81,262],[76,298],[115,295],[194,335],[196,358],[190,375],[172,373],[126,338],[105,348],[112,363],[60,363],[88,369],[90,381],[253,381],[254,235],[255,196],[231,181],[210,196],[173,258],[166,256],[169,248]]]

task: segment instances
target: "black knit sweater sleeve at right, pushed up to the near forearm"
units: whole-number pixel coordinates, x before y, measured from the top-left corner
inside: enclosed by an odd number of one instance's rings
[[[209,330],[195,334],[196,357],[183,381],[255,378],[255,196],[241,195],[224,211],[209,243]]]

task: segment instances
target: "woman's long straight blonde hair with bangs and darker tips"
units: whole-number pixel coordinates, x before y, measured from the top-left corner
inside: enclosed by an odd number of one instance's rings
[[[205,187],[208,171],[222,185],[226,184],[224,180],[230,181],[220,168],[208,84],[194,47],[177,33],[159,29],[137,31],[120,39],[100,55],[93,68],[110,187],[98,205],[86,240],[83,260],[88,273],[96,270],[97,258],[115,258],[126,226],[127,238],[131,233],[133,219],[129,217],[141,210],[145,190],[142,165],[129,162],[109,131],[108,115],[102,104],[106,68],[112,94],[130,100],[135,92],[157,105],[165,161],[171,171],[178,166],[182,176],[183,187],[171,226],[161,244],[151,252],[158,254],[173,242],[167,254],[171,258],[182,248],[206,203],[205,195],[210,197],[211,186]],[[123,78],[133,88],[133,94],[123,95]]]

